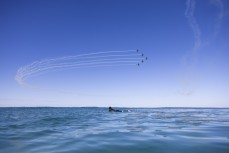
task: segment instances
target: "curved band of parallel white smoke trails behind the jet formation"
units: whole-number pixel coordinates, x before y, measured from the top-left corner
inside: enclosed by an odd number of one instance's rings
[[[143,55],[140,53],[136,54],[136,50],[127,50],[96,52],[44,59],[19,68],[15,80],[20,85],[25,85],[26,79],[51,71],[101,66],[137,65],[143,60],[142,56]]]

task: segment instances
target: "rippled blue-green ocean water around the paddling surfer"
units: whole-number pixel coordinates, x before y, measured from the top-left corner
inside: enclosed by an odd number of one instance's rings
[[[128,109],[0,108],[0,152],[229,153],[229,109]]]

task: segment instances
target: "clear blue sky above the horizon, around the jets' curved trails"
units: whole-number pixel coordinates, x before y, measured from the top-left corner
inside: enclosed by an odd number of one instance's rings
[[[227,0],[1,0],[0,106],[229,107]],[[44,59],[140,49],[140,66],[59,69]]]

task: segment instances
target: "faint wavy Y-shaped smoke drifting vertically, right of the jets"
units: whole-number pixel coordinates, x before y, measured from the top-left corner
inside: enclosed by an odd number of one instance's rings
[[[215,29],[212,33],[212,40],[215,39],[216,35],[219,33],[221,29],[222,19],[224,17],[224,5],[221,0],[211,0],[213,5],[215,5],[219,13],[217,14],[217,18],[215,20]],[[188,20],[188,24],[191,27],[194,34],[194,45],[191,49],[191,52],[188,52],[182,59],[182,62],[185,67],[184,76],[182,77],[183,90],[181,91],[182,95],[192,95],[195,89],[195,82],[198,76],[196,71],[196,66],[198,64],[198,56],[200,50],[205,47],[206,44],[210,43],[210,40],[203,41],[201,40],[201,29],[199,24],[194,16],[196,8],[195,0],[187,0],[186,1],[186,11],[185,16]],[[208,38],[209,39],[209,38]]]

